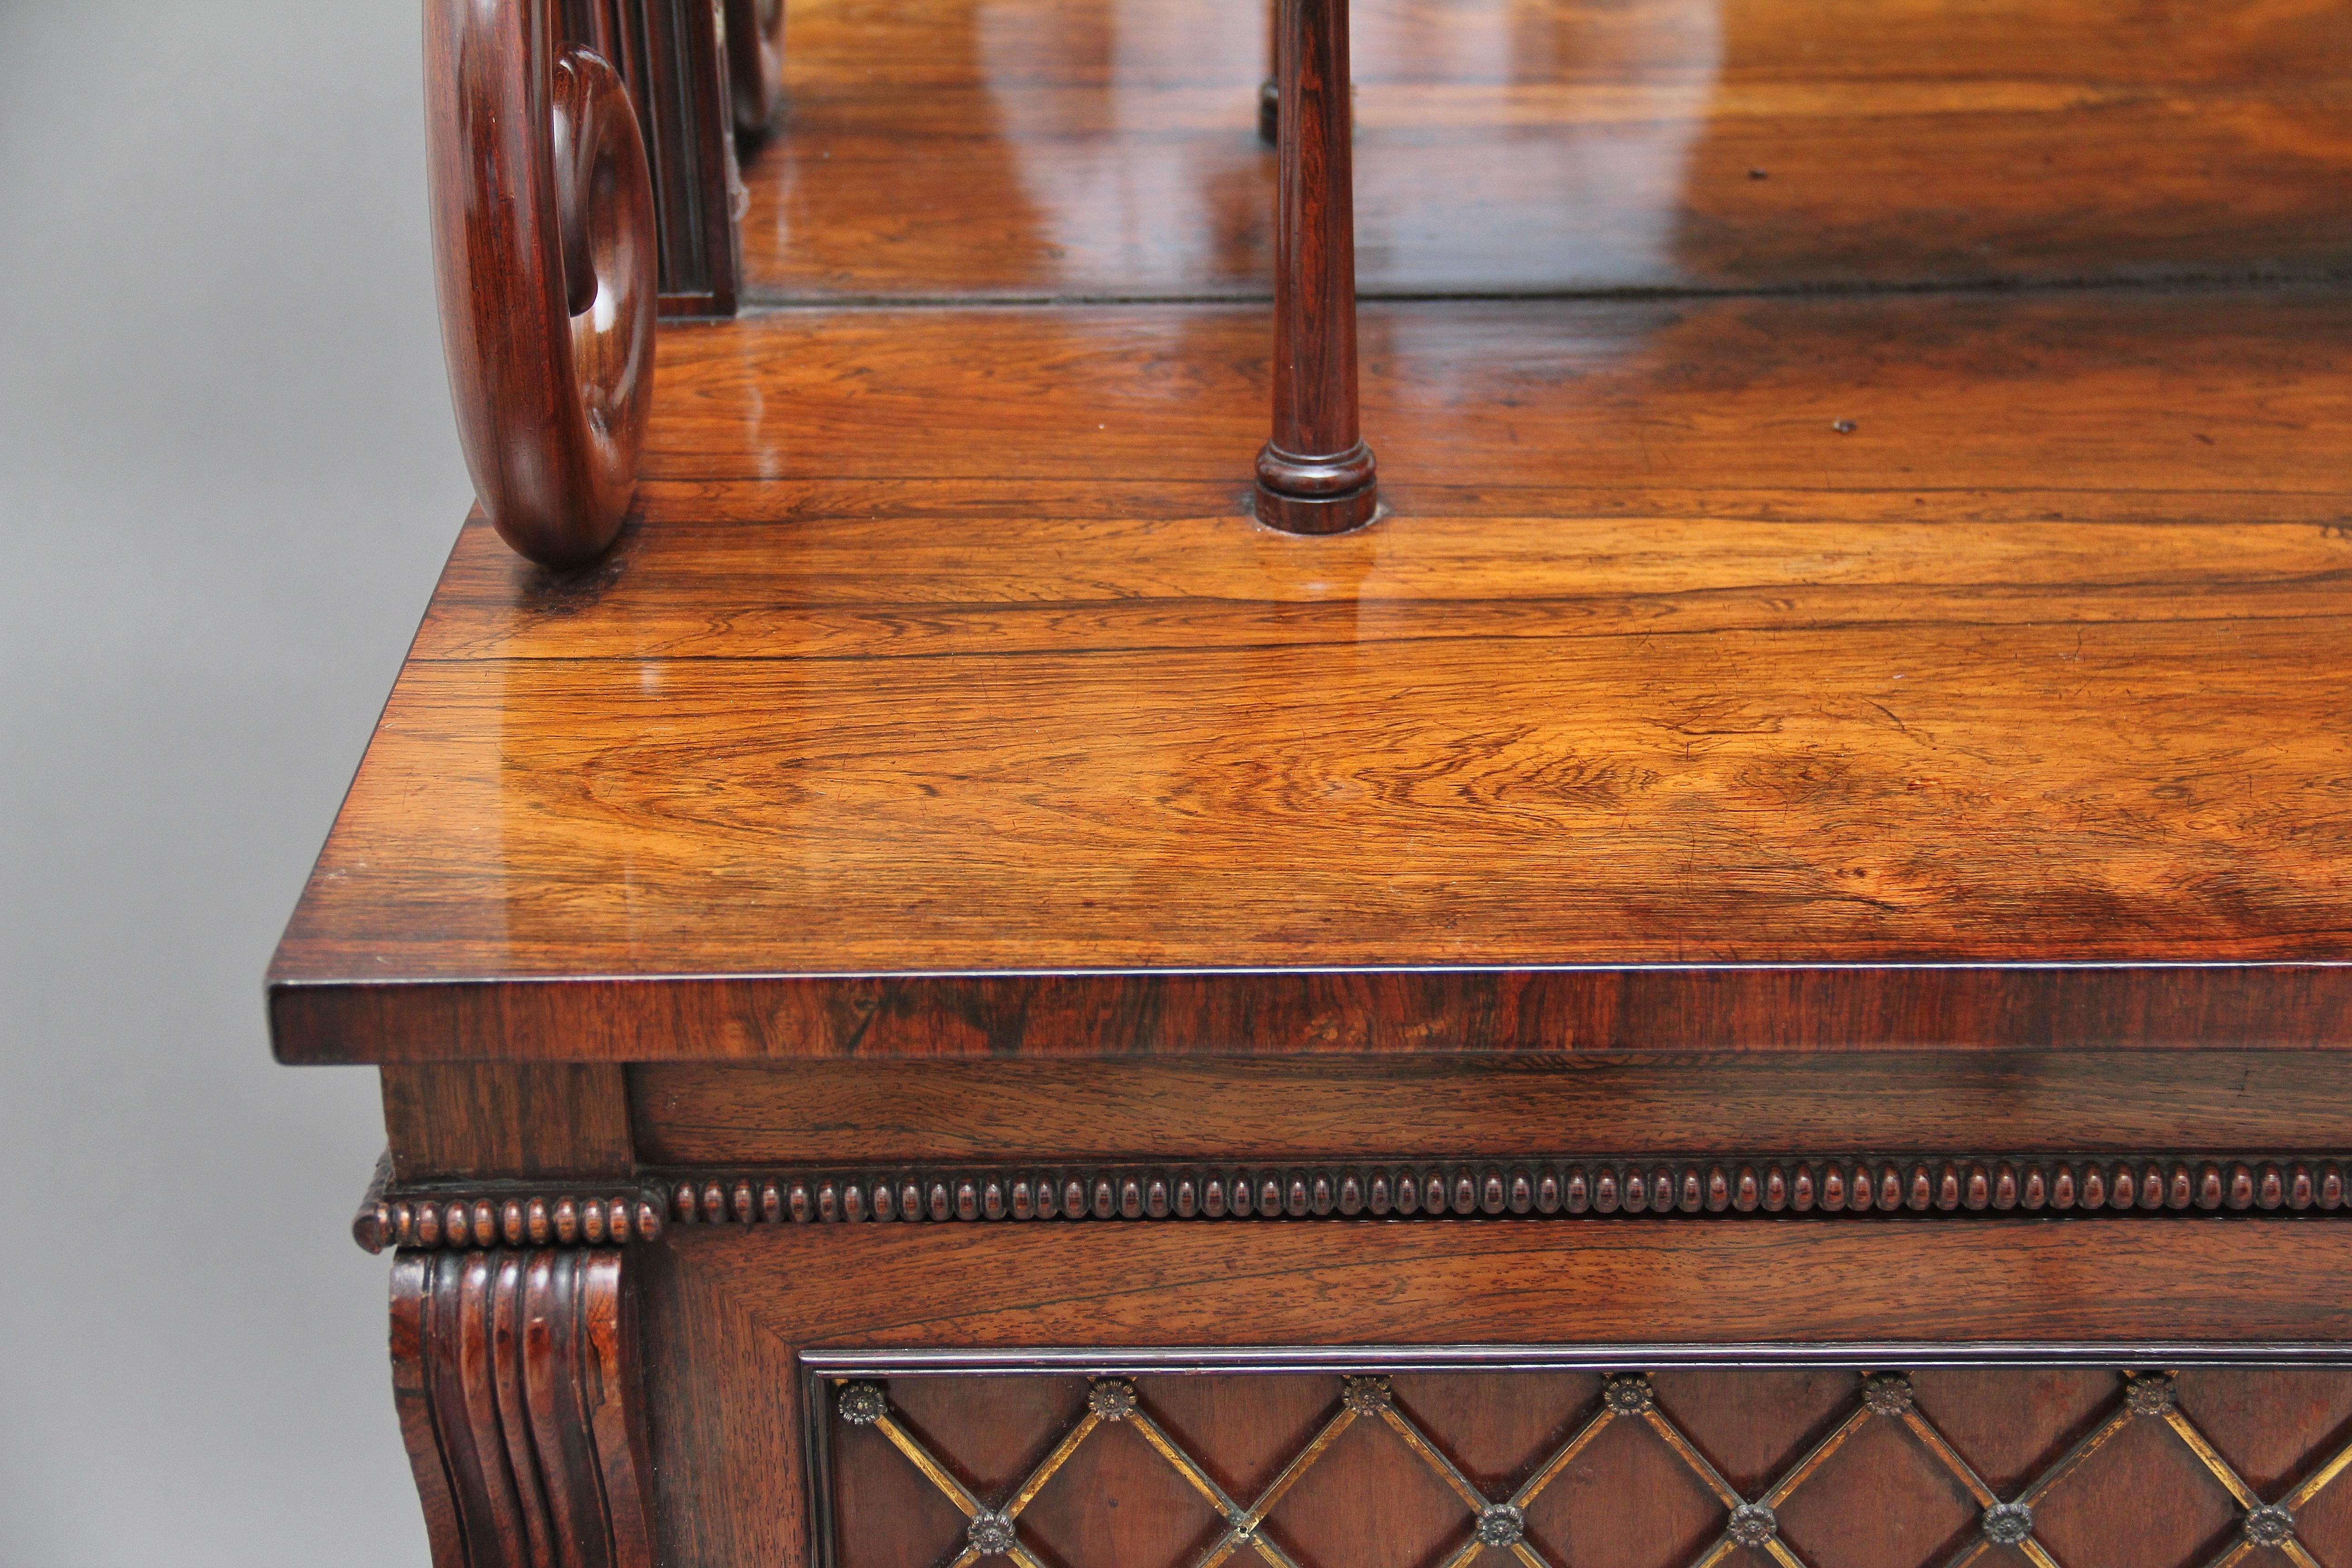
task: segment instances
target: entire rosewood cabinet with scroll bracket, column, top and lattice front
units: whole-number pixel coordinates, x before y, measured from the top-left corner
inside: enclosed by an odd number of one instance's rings
[[[2333,9],[435,14],[268,994],[435,1568],[2352,1568]]]

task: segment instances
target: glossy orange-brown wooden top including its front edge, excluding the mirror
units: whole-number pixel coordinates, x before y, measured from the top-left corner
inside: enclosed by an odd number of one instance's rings
[[[1376,308],[1324,541],[1223,458],[1254,308],[673,331],[595,574],[461,541],[280,1048],[2343,1044],[2347,329]]]

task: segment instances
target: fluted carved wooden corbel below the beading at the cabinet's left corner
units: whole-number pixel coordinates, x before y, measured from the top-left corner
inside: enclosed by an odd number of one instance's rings
[[[652,1568],[623,1284],[612,1248],[395,1258],[393,1396],[433,1568]]]

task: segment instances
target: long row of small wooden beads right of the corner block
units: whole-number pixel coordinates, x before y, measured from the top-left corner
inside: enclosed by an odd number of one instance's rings
[[[866,1171],[656,1180],[677,1225],[1439,1215],[2340,1211],[2338,1159],[1583,1159]]]

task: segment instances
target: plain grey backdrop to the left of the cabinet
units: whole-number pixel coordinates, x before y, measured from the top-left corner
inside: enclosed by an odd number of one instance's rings
[[[0,1563],[426,1561],[261,971],[470,498],[414,0],[0,0]]]

